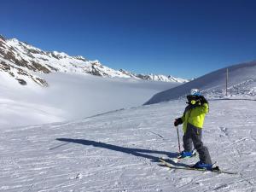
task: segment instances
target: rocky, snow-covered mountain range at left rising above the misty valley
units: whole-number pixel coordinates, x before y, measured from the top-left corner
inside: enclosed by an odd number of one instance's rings
[[[48,82],[42,79],[38,73],[55,72],[177,83],[188,81],[172,76],[135,74],[125,70],[117,71],[103,66],[99,61],[88,61],[83,56],[70,56],[63,52],[44,51],[15,38],[5,39],[0,36],[0,73],[9,73],[20,84],[34,82],[41,86],[48,86]]]

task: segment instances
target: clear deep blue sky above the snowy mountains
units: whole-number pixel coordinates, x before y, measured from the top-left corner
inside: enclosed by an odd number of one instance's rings
[[[183,78],[256,58],[256,1],[2,0],[0,34]]]

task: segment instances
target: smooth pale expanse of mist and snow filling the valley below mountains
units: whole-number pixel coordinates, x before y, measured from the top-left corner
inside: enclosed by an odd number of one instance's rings
[[[178,83],[110,79],[68,73],[41,74],[49,87],[22,86],[0,72],[0,126],[38,125],[82,119],[142,105],[155,93]]]

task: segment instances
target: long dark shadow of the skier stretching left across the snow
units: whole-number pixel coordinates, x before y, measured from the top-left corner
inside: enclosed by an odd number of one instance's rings
[[[172,152],[148,150],[148,149],[142,149],[142,148],[125,148],[125,147],[120,147],[113,144],[95,142],[95,141],[90,141],[85,139],[56,138],[56,140],[60,142],[66,142],[66,143],[78,143],[82,145],[91,145],[96,148],[107,148],[109,150],[119,151],[125,154],[132,154],[137,157],[143,157],[154,162],[160,162],[159,160],[160,157],[153,156],[151,154],[166,154],[169,158],[177,157],[177,153],[172,153]],[[171,163],[173,166],[186,166],[183,163],[176,163],[171,159],[168,159],[168,163]]]

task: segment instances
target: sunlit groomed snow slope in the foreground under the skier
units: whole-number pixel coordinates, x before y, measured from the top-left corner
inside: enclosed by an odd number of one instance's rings
[[[130,108],[68,123],[1,128],[1,191],[256,191],[254,101],[210,100],[203,141],[237,175],[169,170],[174,118],[185,101]],[[180,127],[181,130],[181,127]],[[198,157],[182,160],[193,164]]]

